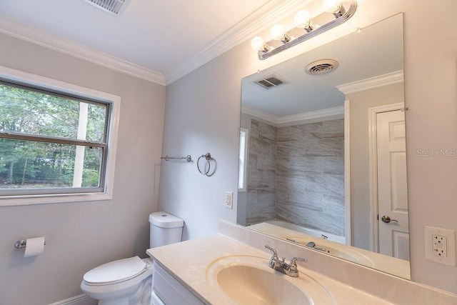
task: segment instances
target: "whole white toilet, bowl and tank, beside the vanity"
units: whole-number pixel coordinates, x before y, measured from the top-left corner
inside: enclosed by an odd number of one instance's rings
[[[149,246],[165,246],[181,241],[184,221],[166,212],[149,215]],[[81,282],[86,296],[99,305],[149,305],[151,303],[151,259],[139,256],[119,259],[87,271]]]

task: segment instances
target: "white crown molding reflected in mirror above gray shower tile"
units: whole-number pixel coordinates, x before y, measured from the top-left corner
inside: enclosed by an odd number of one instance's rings
[[[318,111],[309,111],[303,114],[293,114],[291,116],[273,116],[271,114],[267,114],[266,112],[245,106],[241,106],[241,112],[243,114],[253,116],[257,119],[267,121],[268,123],[273,124],[277,127],[308,124],[317,121],[328,121],[333,119],[343,119],[344,117],[343,106]]]

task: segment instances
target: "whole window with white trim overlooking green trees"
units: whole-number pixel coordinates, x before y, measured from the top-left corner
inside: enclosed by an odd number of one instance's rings
[[[1,71],[0,205],[111,198],[119,97]]]

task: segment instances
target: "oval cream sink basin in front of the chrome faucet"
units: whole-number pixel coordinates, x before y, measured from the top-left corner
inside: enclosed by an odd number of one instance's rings
[[[257,256],[217,259],[208,266],[206,280],[228,296],[231,304],[335,304],[331,294],[310,276],[300,272],[298,278],[292,278],[269,268],[268,259]]]

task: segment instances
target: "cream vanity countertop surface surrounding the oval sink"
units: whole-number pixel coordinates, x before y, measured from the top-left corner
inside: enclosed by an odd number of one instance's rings
[[[166,271],[169,271],[176,280],[201,299],[201,301],[204,301],[206,304],[216,305],[235,304],[235,302],[229,296],[226,296],[221,289],[214,286],[214,279],[211,279],[211,276],[208,275],[211,264],[229,256],[256,256],[264,258],[265,266],[268,267],[268,260],[271,257],[268,249],[261,251],[221,234],[148,249],[146,253],[164,267]],[[281,256],[281,253],[279,255]],[[313,261],[308,261],[308,263],[297,262],[298,271],[301,272],[303,279],[311,277],[333,296],[333,301],[325,301],[325,303],[319,303],[319,297],[317,296],[315,302],[318,305],[391,304],[377,296],[311,271],[306,268],[306,264],[313,264]],[[286,276],[279,271],[274,272],[277,272],[281,276]],[[288,281],[297,280],[296,283],[302,281],[298,280],[300,278],[294,279],[290,276],[287,277]],[[297,285],[299,286],[301,284]]]

